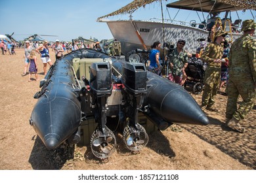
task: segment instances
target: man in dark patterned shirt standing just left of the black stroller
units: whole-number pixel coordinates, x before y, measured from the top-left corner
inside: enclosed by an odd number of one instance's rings
[[[188,53],[183,49],[186,41],[179,39],[177,47],[169,55],[169,75],[168,78],[177,84],[184,84],[186,80],[185,69],[188,66]],[[184,78],[184,79],[183,79]]]

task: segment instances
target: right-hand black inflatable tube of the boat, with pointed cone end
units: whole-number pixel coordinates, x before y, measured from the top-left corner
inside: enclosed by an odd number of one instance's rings
[[[116,61],[113,66],[122,72],[123,64],[121,61]],[[207,116],[198,103],[178,84],[149,71],[146,84],[148,91],[144,106],[148,106],[153,115],[170,123],[209,124]]]

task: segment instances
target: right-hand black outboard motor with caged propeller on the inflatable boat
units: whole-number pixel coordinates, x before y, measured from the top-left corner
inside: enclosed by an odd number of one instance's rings
[[[127,124],[123,129],[123,141],[132,151],[141,150],[148,144],[148,134],[138,123],[138,112],[146,95],[146,67],[143,63],[125,63],[123,67],[123,85]]]

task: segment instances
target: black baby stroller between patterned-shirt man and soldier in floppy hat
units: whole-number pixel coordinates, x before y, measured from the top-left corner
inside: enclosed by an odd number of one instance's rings
[[[193,88],[194,94],[200,94],[203,91],[203,76],[206,65],[198,58],[191,58],[188,60],[188,67],[186,67],[186,82],[184,88],[189,86]]]

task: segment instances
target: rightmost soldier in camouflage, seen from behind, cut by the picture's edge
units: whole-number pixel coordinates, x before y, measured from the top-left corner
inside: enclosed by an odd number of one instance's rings
[[[242,24],[244,35],[236,39],[230,49],[228,65],[228,103],[226,105],[226,125],[244,133],[240,120],[253,108],[256,86],[256,40],[252,35],[256,24],[245,20]],[[238,95],[243,101],[237,108]]]

